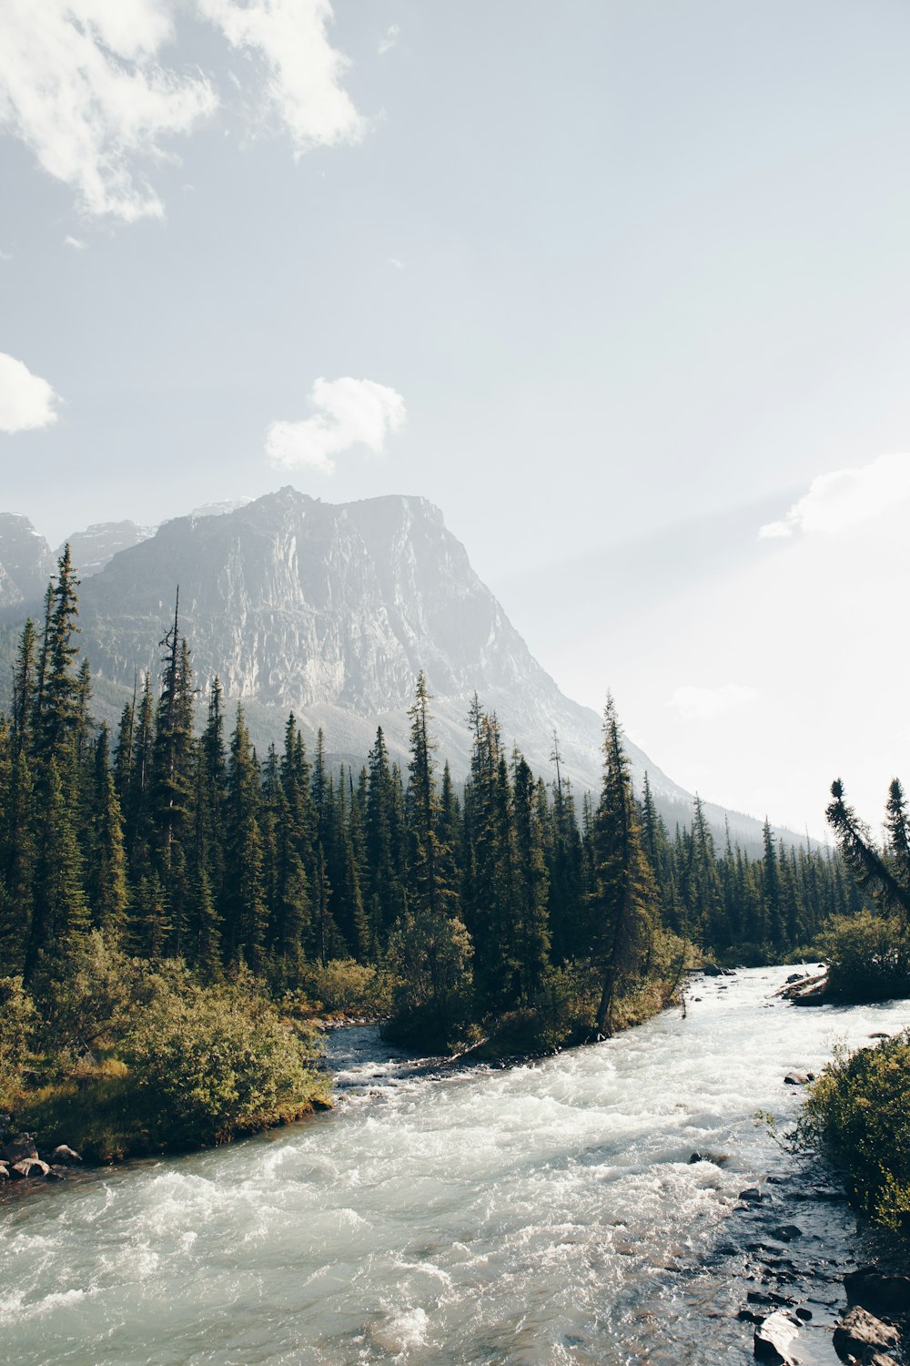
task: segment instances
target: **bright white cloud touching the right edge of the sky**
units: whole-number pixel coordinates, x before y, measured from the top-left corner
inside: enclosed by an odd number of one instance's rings
[[[759,529],[763,538],[791,537],[799,531],[834,535],[846,527],[880,516],[910,497],[910,455],[880,455],[870,464],[820,474],[809,492],[794,503],[782,522]]]

